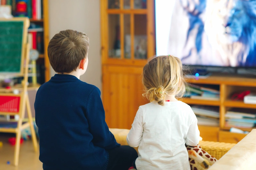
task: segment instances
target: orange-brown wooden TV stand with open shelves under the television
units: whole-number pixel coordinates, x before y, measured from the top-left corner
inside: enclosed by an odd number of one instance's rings
[[[245,104],[244,101],[233,101],[231,95],[235,92],[250,90],[256,92],[256,78],[230,77],[230,76],[210,76],[208,78],[187,78],[186,81],[191,84],[219,85],[220,86],[220,101],[212,100],[194,100],[190,98],[180,99],[189,105],[207,105],[220,107],[220,125],[216,126],[201,126],[199,130],[201,137],[204,140],[212,140],[219,142],[237,143],[245,137],[245,134],[237,134],[229,132],[231,127],[225,125],[225,114],[229,108],[255,109],[255,104]],[[251,131],[254,128],[240,128],[243,131]],[[207,129],[207,130],[205,130]],[[210,135],[209,135],[210,133]]]

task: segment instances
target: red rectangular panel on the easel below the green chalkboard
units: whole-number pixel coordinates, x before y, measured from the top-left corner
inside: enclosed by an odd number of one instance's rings
[[[19,113],[20,97],[0,96],[0,112]]]

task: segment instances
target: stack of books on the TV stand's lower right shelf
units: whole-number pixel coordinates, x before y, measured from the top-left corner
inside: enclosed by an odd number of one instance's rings
[[[234,108],[226,113],[225,118],[227,127],[252,128],[256,124],[256,111]]]

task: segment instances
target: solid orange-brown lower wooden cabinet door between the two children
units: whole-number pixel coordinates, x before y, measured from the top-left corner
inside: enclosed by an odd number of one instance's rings
[[[148,103],[142,97],[142,67],[103,65],[102,73],[108,127],[131,129],[139,106]]]

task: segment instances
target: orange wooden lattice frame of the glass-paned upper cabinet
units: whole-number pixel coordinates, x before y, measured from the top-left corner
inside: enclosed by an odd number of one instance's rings
[[[120,0],[120,9],[108,9],[108,0],[100,1],[100,13],[101,13],[101,54],[102,64],[114,64],[114,65],[131,65],[131,66],[144,66],[147,63],[147,59],[155,55],[155,19],[154,12],[154,0],[147,1],[147,9],[134,9],[134,0],[130,0],[130,9],[123,9],[124,0]],[[120,58],[108,57],[108,14],[120,15],[120,37],[121,37],[121,56]],[[130,14],[131,22],[131,58],[124,58],[124,14]],[[147,15],[147,59],[135,59],[134,58],[134,15],[145,14]]]

